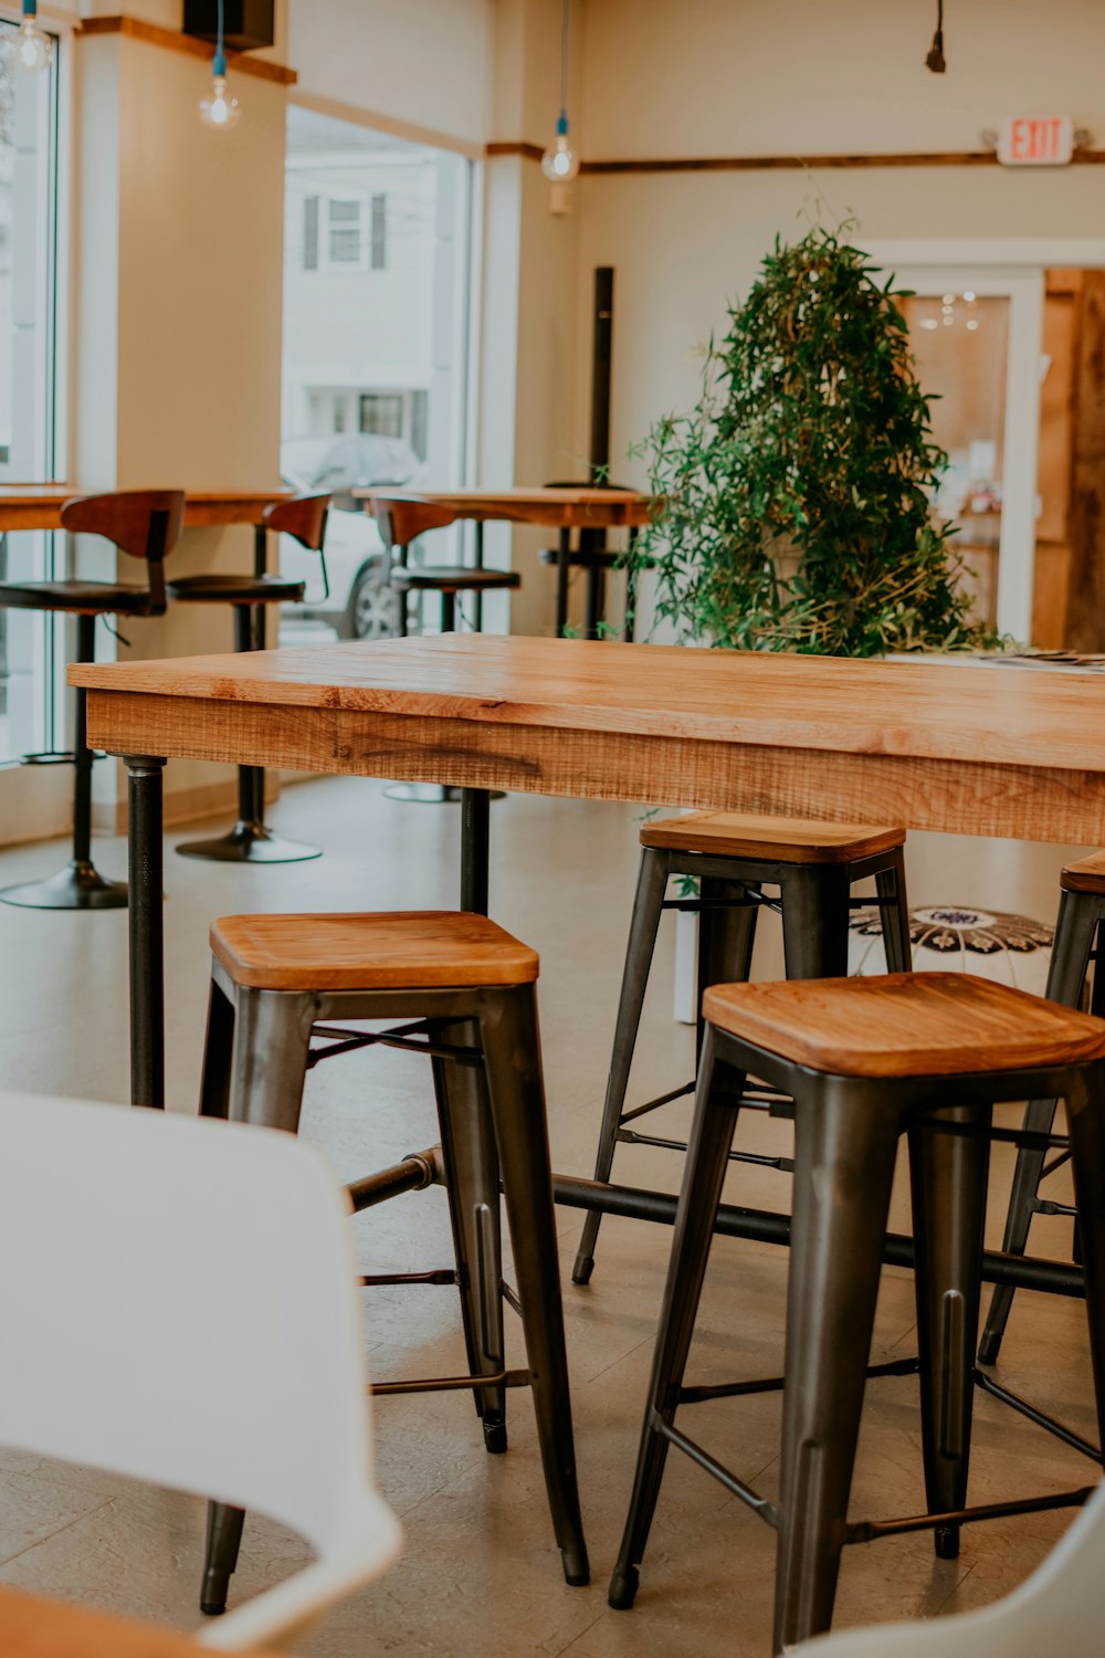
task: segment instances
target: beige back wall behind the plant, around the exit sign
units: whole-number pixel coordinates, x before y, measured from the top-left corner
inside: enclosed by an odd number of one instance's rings
[[[1072,114],[1105,148],[1105,7],[976,0],[949,10],[944,76],[924,68],[921,0],[581,0],[583,154],[591,159],[977,149],[1006,114]],[[674,172],[585,177],[578,307],[616,269],[613,453],[696,393],[724,327],[779,234],[858,221],[853,237],[1093,235],[1105,169],[989,167]],[[575,426],[586,429],[586,328]],[[620,469],[625,471],[621,461]],[[635,468],[628,468],[630,478]],[[636,466],[636,478],[641,478]]]

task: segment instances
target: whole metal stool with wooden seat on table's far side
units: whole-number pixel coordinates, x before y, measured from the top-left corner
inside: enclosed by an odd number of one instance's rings
[[[853,905],[870,902],[852,899],[850,889],[873,875],[886,933],[888,967],[891,972],[905,972],[911,965],[905,839],[905,829],[802,822],[741,812],[689,812],[646,824],[641,831],[641,870],[633,900],[615,1045],[598,1131],[596,1180],[610,1180],[618,1141],[686,1151],[683,1141],[639,1134],[628,1124],[692,1093],[694,1083],[686,1083],[633,1111],[625,1109],[661,914],[668,909],[697,912],[701,1005],[707,985],[749,977],[755,917],[762,907],[782,915],[787,978],[828,978],[847,973],[848,915]],[[697,899],[666,899],[668,880],[673,875],[694,877],[699,882]],[[777,887],[779,897],[767,897],[764,887]],[[701,1045],[699,1013],[699,1050]],[[744,1152],[734,1152],[734,1157],[747,1161]],[[586,1217],[572,1268],[573,1283],[590,1282],[600,1220],[598,1210],[591,1210]]]

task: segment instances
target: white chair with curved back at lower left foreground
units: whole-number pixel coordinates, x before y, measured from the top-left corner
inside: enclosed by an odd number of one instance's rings
[[[310,1146],[3,1093],[0,1262],[0,1444],[257,1509],[315,1549],[202,1645],[278,1640],[396,1559],[348,1205]]]

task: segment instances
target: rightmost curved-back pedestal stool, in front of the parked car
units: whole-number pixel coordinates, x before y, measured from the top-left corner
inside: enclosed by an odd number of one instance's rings
[[[419,536],[456,524],[457,516],[449,507],[437,506],[436,501],[424,501],[421,496],[379,494],[373,494],[371,507],[391,557],[389,582],[399,590],[401,638],[406,638],[409,628],[408,602],[411,594],[441,594],[441,632],[452,633],[459,594],[475,594],[479,602],[487,592],[520,587],[520,577],[512,570],[485,570],[482,565],[469,569],[461,564],[413,565],[409,562],[411,545]],[[441,783],[394,783],[384,793],[393,801],[442,806],[459,801],[464,791]],[[502,791],[495,791],[492,799],[499,799],[500,794]]]

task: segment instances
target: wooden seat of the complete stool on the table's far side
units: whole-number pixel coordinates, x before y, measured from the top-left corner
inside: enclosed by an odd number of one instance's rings
[[[764,857],[777,864],[852,864],[905,846],[905,829],[823,824],[749,812],[686,812],[641,829],[641,846],[717,857]]]

